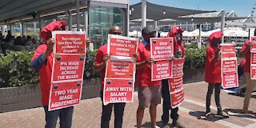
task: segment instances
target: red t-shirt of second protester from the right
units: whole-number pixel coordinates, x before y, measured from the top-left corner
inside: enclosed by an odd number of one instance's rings
[[[216,46],[208,46],[206,49],[205,81],[209,83],[221,83],[221,59],[214,63]]]

